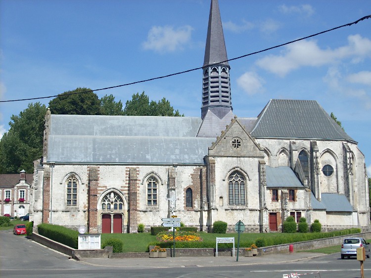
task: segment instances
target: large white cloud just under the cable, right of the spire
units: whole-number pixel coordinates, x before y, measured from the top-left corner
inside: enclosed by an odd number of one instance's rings
[[[315,40],[300,40],[288,44],[281,55],[268,55],[256,64],[280,77],[303,66],[318,67],[351,58],[353,63],[371,56],[371,40],[360,35],[348,37],[348,44],[335,49],[321,49]]]

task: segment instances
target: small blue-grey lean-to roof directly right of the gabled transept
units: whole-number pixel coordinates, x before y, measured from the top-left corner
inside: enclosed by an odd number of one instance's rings
[[[303,188],[295,173],[288,166],[266,166],[267,188]]]

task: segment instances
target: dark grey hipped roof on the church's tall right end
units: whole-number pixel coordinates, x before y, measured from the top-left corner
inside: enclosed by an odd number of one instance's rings
[[[271,99],[258,116],[251,135],[355,142],[315,100]]]

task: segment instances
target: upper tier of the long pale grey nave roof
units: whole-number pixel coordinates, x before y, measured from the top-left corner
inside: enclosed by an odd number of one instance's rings
[[[50,135],[195,137],[197,117],[51,115]]]

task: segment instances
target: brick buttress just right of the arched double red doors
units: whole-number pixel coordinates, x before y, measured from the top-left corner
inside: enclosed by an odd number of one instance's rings
[[[138,229],[138,169],[135,167],[129,168],[129,209],[128,209],[128,228],[130,232],[135,232]]]

